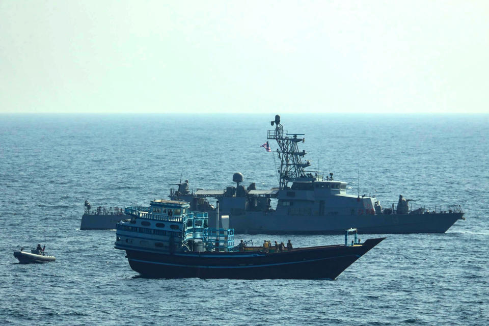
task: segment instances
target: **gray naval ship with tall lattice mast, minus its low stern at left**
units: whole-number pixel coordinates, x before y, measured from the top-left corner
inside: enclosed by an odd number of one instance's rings
[[[193,191],[185,180],[169,197],[191,203],[191,210],[208,212],[210,225],[215,214],[208,198],[219,200],[221,214],[229,215],[229,227],[236,233],[342,234],[352,227],[370,234],[444,233],[457,220],[465,220],[459,205],[447,205],[445,211],[411,210],[410,200],[399,196],[397,207],[383,208],[375,197],[348,195],[347,183],[334,180],[333,173],[324,178],[319,171],[305,170],[311,164],[302,161],[306,151],[298,149],[304,134],[284,131],[279,115],[271,125],[275,129],[268,130],[267,139],[279,146],[279,187],[257,190],[251,183],[245,188],[242,174],[235,173],[236,186]],[[269,151],[268,142],[264,147]],[[277,199],[276,207],[272,199]]]

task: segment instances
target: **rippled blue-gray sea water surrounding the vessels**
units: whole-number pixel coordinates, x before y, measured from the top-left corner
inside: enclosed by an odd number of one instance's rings
[[[115,231],[80,231],[83,203],[147,205],[180,178],[277,185],[262,147],[273,115],[0,116],[0,325],[486,325],[489,116],[282,116],[314,167],[413,206],[459,204],[444,234],[385,235],[335,281],[144,279]],[[270,142],[272,149],[276,144]],[[384,236],[384,235],[383,235]],[[363,239],[375,235],[360,236]],[[295,247],[341,236],[237,235]],[[20,246],[57,261],[21,265]]]

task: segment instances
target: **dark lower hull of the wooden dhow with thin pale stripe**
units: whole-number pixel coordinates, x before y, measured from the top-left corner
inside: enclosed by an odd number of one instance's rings
[[[352,247],[310,247],[278,253],[126,253],[131,268],[149,278],[334,280],[383,239],[368,239]]]

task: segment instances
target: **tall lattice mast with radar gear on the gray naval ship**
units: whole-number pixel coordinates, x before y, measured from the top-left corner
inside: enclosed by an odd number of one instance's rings
[[[304,172],[304,168],[310,166],[310,162],[306,160],[303,163],[301,157],[306,155],[306,151],[299,151],[298,143],[304,142],[304,138],[297,138],[297,136],[304,136],[304,133],[288,133],[280,124],[280,116],[275,116],[275,121],[270,121],[271,125],[275,124],[274,130],[268,130],[267,139],[274,139],[279,144],[277,149],[277,155],[280,159],[280,189],[287,188],[288,182],[293,181],[312,181],[315,178],[312,175],[307,176]]]

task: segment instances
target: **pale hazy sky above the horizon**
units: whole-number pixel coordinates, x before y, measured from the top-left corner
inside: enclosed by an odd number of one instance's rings
[[[0,113],[489,113],[489,1],[0,1]]]

